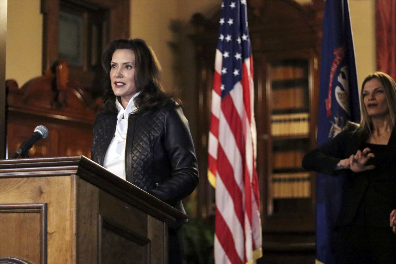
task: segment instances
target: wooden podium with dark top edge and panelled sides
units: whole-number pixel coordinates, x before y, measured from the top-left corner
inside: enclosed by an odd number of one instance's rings
[[[0,161],[0,263],[167,263],[185,218],[84,156]]]

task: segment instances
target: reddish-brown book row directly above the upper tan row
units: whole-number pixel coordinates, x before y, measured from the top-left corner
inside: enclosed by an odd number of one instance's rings
[[[272,109],[303,108],[308,104],[307,88],[291,87],[283,89],[272,89]]]

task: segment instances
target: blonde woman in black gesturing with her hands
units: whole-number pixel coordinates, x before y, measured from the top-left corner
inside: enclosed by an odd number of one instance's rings
[[[303,167],[346,177],[334,224],[335,263],[396,263],[394,80],[383,72],[367,76],[360,103],[360,125],[309,152]]]

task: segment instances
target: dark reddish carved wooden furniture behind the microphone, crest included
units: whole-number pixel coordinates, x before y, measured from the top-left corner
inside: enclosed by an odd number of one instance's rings
[[[65,61],[22,87],[15,80],[7,80],[6,86],[9,156],[37,125],[45,125],[49,135],[30,149],[30,157],[90,157],[93,120],[100,103],[70,80]]]

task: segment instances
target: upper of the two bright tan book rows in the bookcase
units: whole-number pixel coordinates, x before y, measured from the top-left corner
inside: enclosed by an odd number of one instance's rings
[[[308,135],[309,114],[276,114],[271,117],[271,134],[273,136]]]

